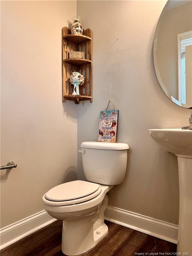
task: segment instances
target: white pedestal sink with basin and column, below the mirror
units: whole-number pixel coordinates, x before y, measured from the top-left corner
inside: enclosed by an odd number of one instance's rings
[[[192,256],[192,130],[150,129],[148,131],[157,144],[177,156],[179,170],[177,252]]]

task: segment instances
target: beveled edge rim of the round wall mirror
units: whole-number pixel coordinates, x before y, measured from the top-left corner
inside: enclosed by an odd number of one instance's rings
[[[159,17],[159,20],[158,20],[158,23],[157,23],[157,27],[156,27],[156,30],[155,30],[155,36],[154,36],[154,42],[153,42],[153,61],[154,61],[154,66],[155,66],[155,73],[156,73],[156,76],[157,76],[157,80],[162,88],[162,90],[164,91],[164,93],[167,95],[167,97],[172,101],[174,102],[175,104],[177,104],[178,106],[181,106],[181,107],[184,107],[184,108],[188,108],[188,109],[192,109],[192,106],[191,105],[187,105],[187,104],[183,104],[181,103],[180,101],[178,101],[177,99],[175,99],[170,93],[169,91],[167,90],[167,88],[165,87],[162,79],[161,79],[161,75],[160,75],[160,72],[159,72],[159,69],[158,69],[158,65],[157,65],[157,36],[158,36],[158,32],[159,32],[159,27],[160,27],[160,23],[161,23],[161,20],[163,18],[163,14],[165,12],[165,7],[166,5],[168,5],[169,1],[171,0],[168,0],[167,3],[165,4],[162,12],[161,12],[161,15]]]

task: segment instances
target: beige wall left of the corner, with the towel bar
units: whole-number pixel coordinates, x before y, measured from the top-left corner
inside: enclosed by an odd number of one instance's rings
[[[42,196],[75,180],[77,117],[62,103],[61,28],[75,1],[1,1],[1,226],[44,210]]]

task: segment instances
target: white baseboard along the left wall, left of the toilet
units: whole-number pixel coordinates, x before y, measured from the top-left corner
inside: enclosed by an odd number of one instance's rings
[[[45,210],[0,229],[0,250],[56,221]]]

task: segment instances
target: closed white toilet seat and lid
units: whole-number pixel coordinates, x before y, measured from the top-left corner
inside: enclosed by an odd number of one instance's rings
[[[76,180],[50,189],[43,196],[43,201],[52,206],[74,205],[95,198],[101,191],[100,184]]]

